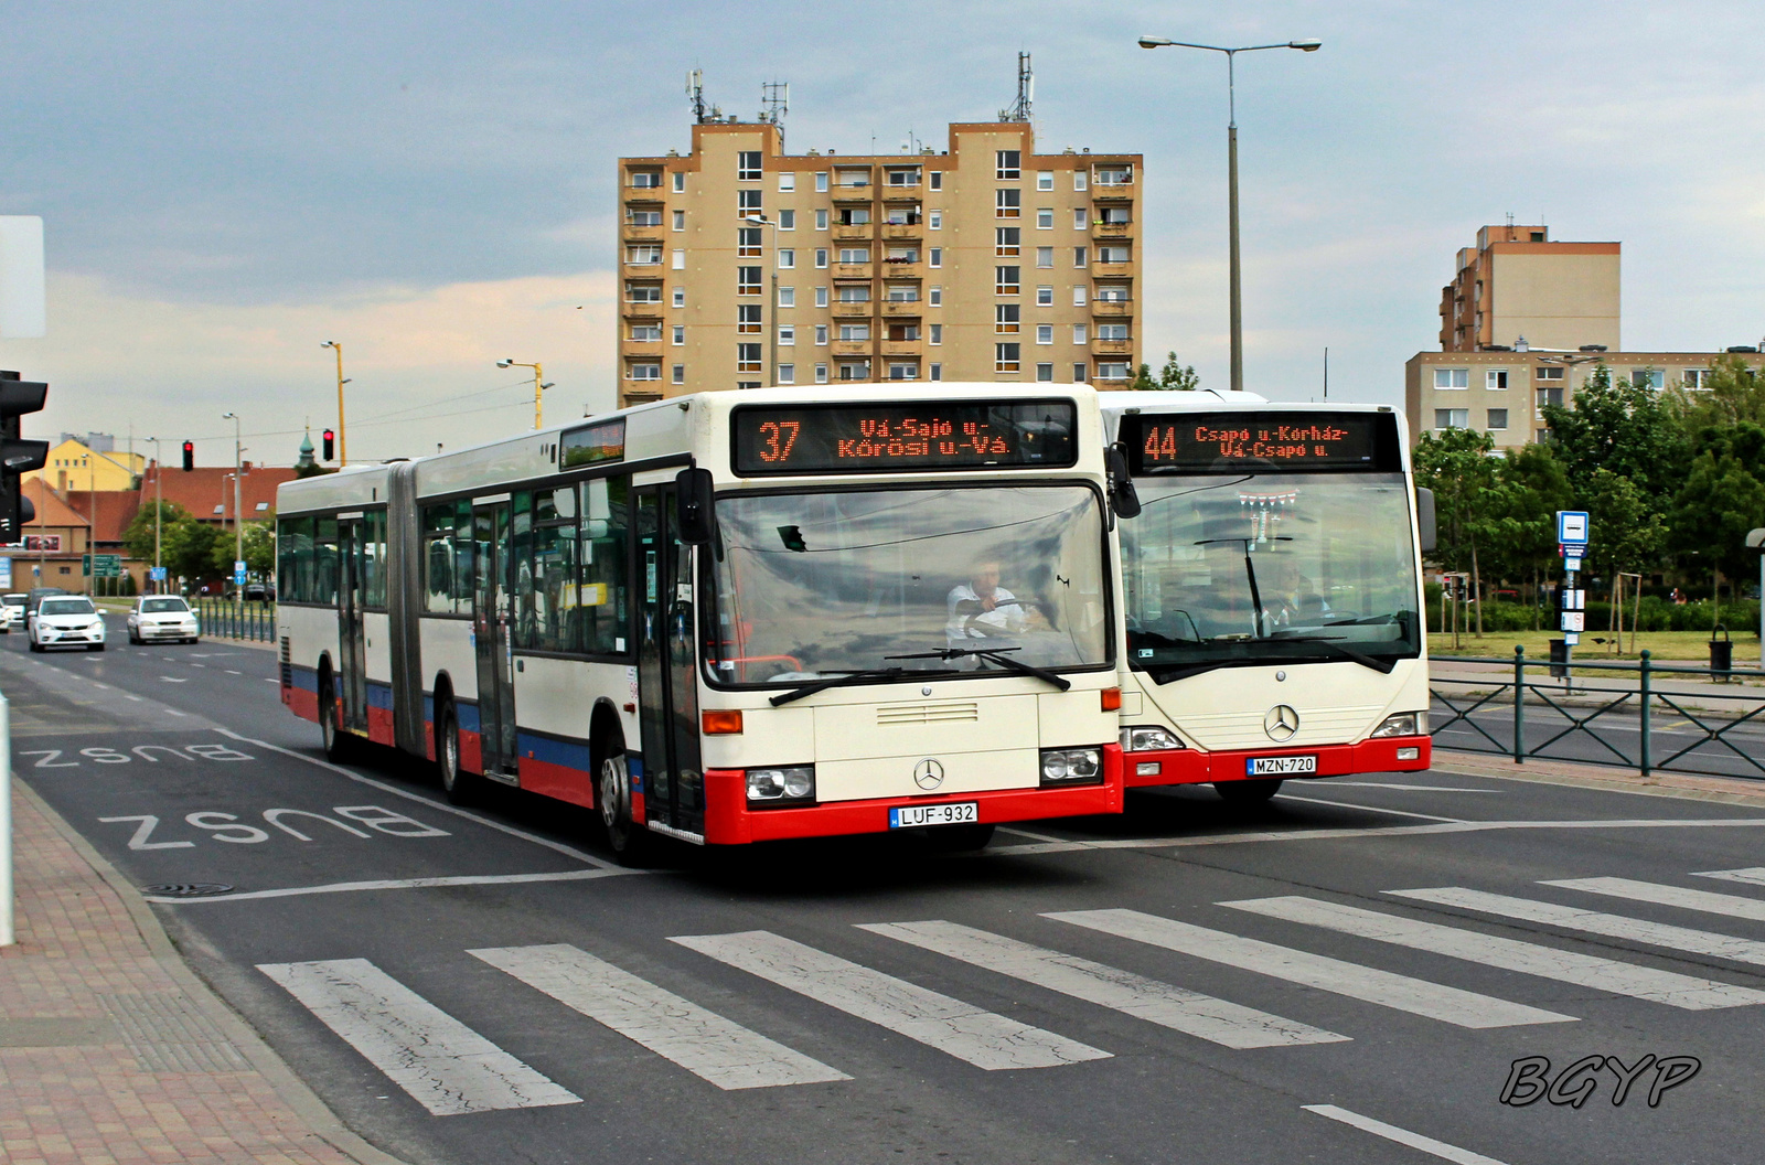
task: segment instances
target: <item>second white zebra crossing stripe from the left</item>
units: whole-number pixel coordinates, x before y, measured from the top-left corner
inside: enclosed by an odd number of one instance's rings
[[[725,1091],[851,1080],[819,1059],[565,943],[466,953]]]

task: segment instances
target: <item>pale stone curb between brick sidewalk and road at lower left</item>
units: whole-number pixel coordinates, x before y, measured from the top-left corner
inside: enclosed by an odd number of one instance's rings
[[[116,891],[122,898],[124,907],[129,911],[129,920],[134,928],[141,934],[146,943],[148,951],[164,971],[176,981],[176,985],[189,996],[203,1015],[219,1027],[228,1040],[240,1050],[240,1054],[251,1063],[252,1070],[268,1080],[275,1094],[286,1103],[295,1116],[298,1116],[307,1128],[330,1144],[334,1149],[344,1156],[360,1161],[360,1165],[408,1165],[402,1158],[392,1156],[383,1149],[376,1149],[367,1140],[349,1131],[342,1121],[337,1119],[318,1093],[309,1089],[300,1077],[282,1061],[281,1056],[270,1048],[268,1043],[258,1034],[258,1031],[245,1022],[233,1008],[228,1006],[221,996],[215,994],[208,983],[196,974],[178,948],[166,936],[164,927],[159,925],[159,918],[148,909],[141,893],[129,884],[122,872],[109,863],[104,854],[92,847],[86,838],[83,838],[74,826],[49,807],[37,791],[18,778],[14,773],[12,789],[30,801],[44,819],[55,828],[55,831],[79,854],[79,858],[90,865],[104,884]]]

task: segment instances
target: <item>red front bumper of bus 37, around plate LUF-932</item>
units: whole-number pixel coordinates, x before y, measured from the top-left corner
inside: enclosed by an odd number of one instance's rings
[[[711,846],[777,842],[792,837],[888,833],[888,810],[897,805],[976,801],[981,824],[1119,814],[1123,805],[1121,747],[1103,748],[1103,784],[1073,789],[1004,789],[994,793],[897,796],[874,801],[833,801],[803,808],[748,808],[741,770],[704,773],[704,840]]]

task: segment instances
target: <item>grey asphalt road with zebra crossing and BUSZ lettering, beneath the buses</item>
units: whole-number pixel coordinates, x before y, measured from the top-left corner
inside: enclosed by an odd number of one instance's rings
[[[270,651],[113,628],[102,655],[0,639],[18,777],[138,884],[231,886],[154,909],[409,1161],[1691,1163],[1765,1140],[1765,810],[1408,773],[1260,808],[1145,793],[978,856],[863,838],[623,872],[584,814],[462,812],[420,764],[323,763]],[[1558,1080],[1587,1057],[1619,1064]],[[1557,1093],[1504,1103],[1511,1075],[1514,1101]]]

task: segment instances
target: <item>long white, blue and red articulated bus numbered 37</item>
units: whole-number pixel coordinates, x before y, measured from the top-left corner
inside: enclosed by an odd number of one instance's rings
[[[277,494],[282,699],[625,851],[1121,812],[1084,385],[713,392]]]

